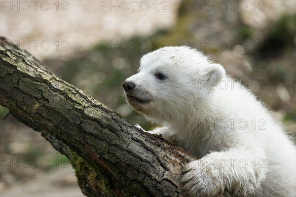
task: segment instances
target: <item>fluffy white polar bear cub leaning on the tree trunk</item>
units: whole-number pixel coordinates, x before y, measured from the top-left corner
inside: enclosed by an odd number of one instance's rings
[[[128,103],[151,131],[198,160],[186,165],[188,196],[296,196],[296,147],[262,103],[224,68],[187,46],[141,58],[123,83]]]

